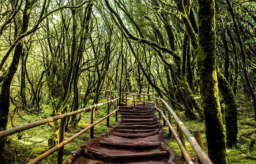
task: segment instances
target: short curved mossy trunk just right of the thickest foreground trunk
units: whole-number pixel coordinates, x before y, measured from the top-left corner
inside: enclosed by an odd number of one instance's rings
[[[217,68],[218,87],[223,96],[225,103],[225,122],[226,122],[226,139],[227,147],[233,148],[237,141],[238,127],[237,127],[237,103],[235,95],[226,81],[225,77]]]

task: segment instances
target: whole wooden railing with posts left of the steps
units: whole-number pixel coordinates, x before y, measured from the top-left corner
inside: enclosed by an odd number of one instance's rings
[[[8,130],[4,130],[4,131],[0,132],[0,138],[7,137],[7,136],[10,136],[11,134],[15,134],[15,133],[27,130],[27,129],[34,128],[34,127],[39,126],[39,125],[44,125],[44,124],[47,124],[49,122],[53,122],[53,121],[61,119],[60,120],[60,130],[59,130],[59,144],[56,145],[55,147],[51,148],[47,152],[43,153],[42,155],[38,156],[37,158],[31,160],[28,163],[28,164],[38,163],[38,162],[42,161],[43,159],[45,159],[46,157],[48,157],[49,155],[51,155],[52,153],[54,153],[55,151],[59,150],[59,152],[58,152],[58,164],[60,164],[60,163],[63,162],[63,149],[64,149],[64,145],[68,144],[69,142],[71,142],[72,140],[74,140],[75,138],[77,138],[78,136],[80,136],[81,134],[83,134],[84,132],[86,132],[89,129],[90,129],[90,138],[93,138],[94,126],[99,124],[99,122],[101,122],[101,121],[103,121],[105,119],[107,119],[106,125],[109,126],[109,117],[112,114],[114,114],[114,113],[115,113],[115,120],[117,121],[117,111],[119,109],[118,108],[118,104],[117,104],[117,100],[118,99],[119,99],[119,97],[116,95],[116,98],[111,99],[111,100],[106,101],[106,102],[95,104],[95,105],[92,105],[92,106],[89,106],[89,107],[86,107],[86,108],[83,108],[83,109],[80,109],[80,110],[76,110],[76,111],[70,112],[70,113],[65,113],[63,111],[58,116],[46,118],[44,120],[39,120],[39,121],[31,122],[29,124],[18,126],[16,128],[11,128],[11,129],[8,129]],[[109,113],[110,103],[112,103],[112,102],[115,102],[114,103],[114,111]],[[98,121],[94,121],[94,111],[95,111],[95,108],[97,108],[99,106],[102,106],[102,105],[105,105],[105,104],[108,105],[107,106],[107,111],[106,111],[106,116],[101,118]],[[90,124],[90,126],[87,126],[86,128],[84,128],[80,132],[76,133],[74,136],[69,137],[67,140],[64,140],[65,118],[69,117],[69,116],[74,116],[75,114],[82,113],[82,112],[84,112],[86,110],[89,110],[89,109],[91,109],[91,124]]]

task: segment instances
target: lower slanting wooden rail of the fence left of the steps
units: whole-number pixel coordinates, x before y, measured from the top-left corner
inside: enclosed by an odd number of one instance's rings
[[[48,157],[49,155],[51,155],[52,153],[54,153],[55,151],[57,151],[58,149],[60,149],[61,147],[63,147],[64,145],[68,144],[69,142],[71,142],[72,140],[74,140],[75,138],[79,137],[81,134],[83,134],[84,132],[86,132],[87,130],[91,129],[92,127],[94,127],[95,125],[99,124],[99,122],[105,120],[106,118],[110,117],[112,114],[116,113],[117,110],[119,108],[117,108],[116,110],[114,110],[113,112],[111,112],[110,114],[108,114],[107,116],[101,118],[98,121],[93,122],[93,124],[91,124],[90,126],[87,126],[86,128],[84,128],[83,130],[81,130],[80,132],[76,133],[74,136],[69,137],[67,140],[60,142],[58,145],[56,145],[55,147],[51,148],[50,150],[48,150],[47,152],[41,154],[40,156],[38,156],[37,158],[33,159],[32,161],[30,161],[27,164],[35,164],[38,163],[40,161],[42,161],[43,159],[45,159],[46,157]]]

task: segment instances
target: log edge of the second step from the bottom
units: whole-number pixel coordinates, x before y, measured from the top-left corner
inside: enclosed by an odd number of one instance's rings
[[[153,148],[159,147],[161,142],[145,142],[145,141],[100,141],[100,145],[115,148]]]

